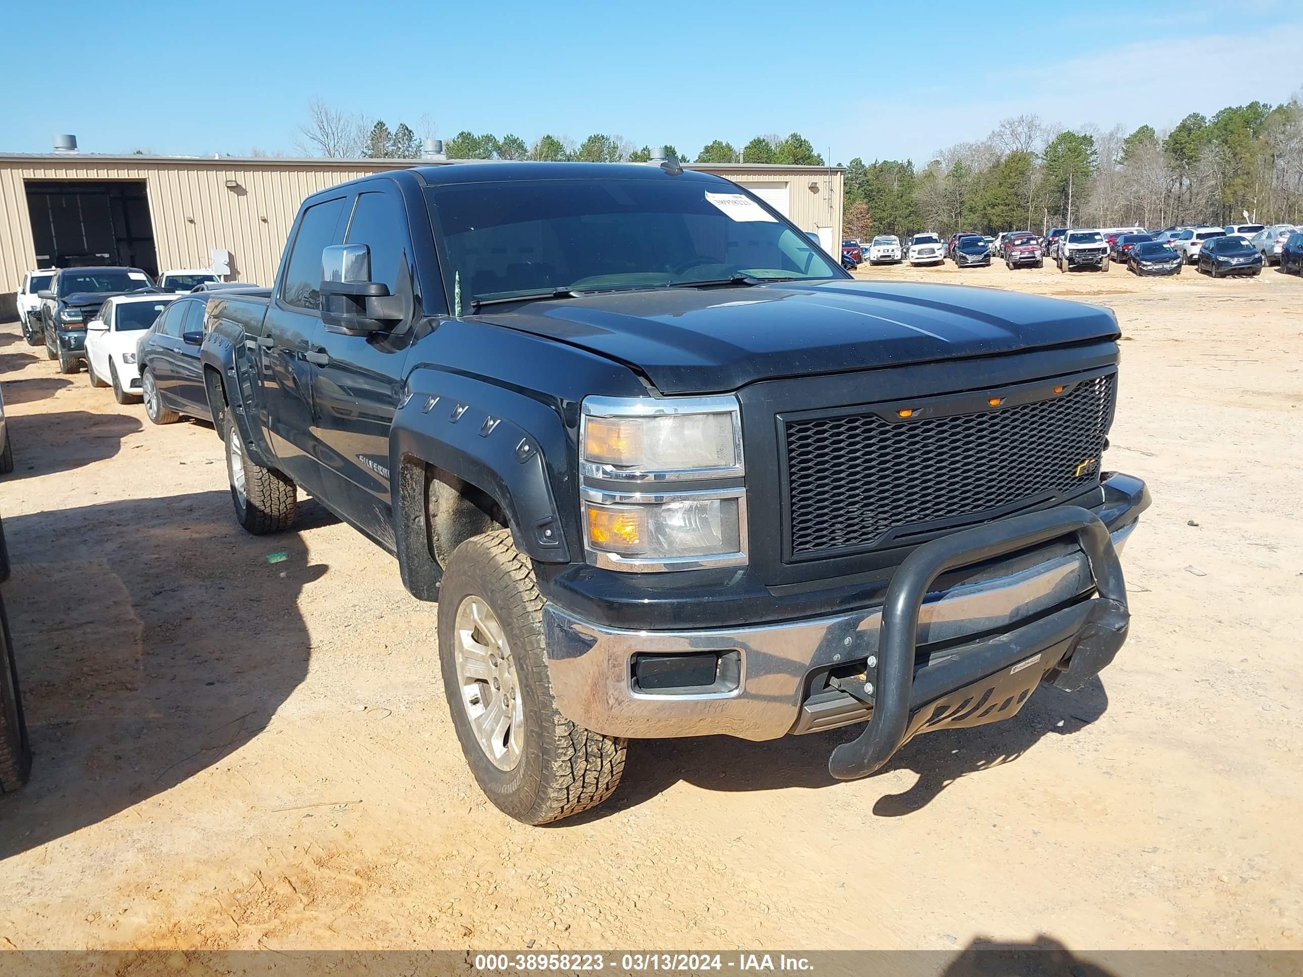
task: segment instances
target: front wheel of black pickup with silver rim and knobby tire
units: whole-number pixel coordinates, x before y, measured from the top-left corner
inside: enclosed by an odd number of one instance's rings
[[[439,589],[439,662],[470,772],[503,813],[526,825],[588,810],[615,791],[627,740],[556,710],[543,599],[511,530],[453,550]]]

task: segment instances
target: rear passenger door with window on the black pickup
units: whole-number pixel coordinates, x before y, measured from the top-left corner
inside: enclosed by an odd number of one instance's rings
[[[309,491],[322,486],[313,431],[313,369],[321,348],[322,249],[339,242],[349,194],[317,199],[298,215],[289,251],[258,337],[267,440],[285,474]]]

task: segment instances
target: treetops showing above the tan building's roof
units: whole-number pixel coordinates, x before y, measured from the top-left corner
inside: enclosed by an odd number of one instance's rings
[[[420,133],[418,133],[420,130]],[[308,107],[308,119],[298,126],[297,146],[313,156],[330,159],[420,159],[426,138],[434,135],[434,125],[423,116],[418,129],[399,122],[391,130],[384,120],[365,113],[349,113],[323,102]],[[685,159],[674,145],[665,146],[667,154]],[[576,163],[645,163],[652,159],[652,146],[641,149],[623,135],[594,133],[582,142],[568,135],[541,135],[532,143],[508,133],[498,138],[493,133],[476,134],[465,129],[443,143],[448,159],[530,159]],[[814,151],[809,139],[800,133],[786,138],[757,135],[740,150],[723,139],[714,139],[701,147],[696,163],[783,163],[788,165],[823,165],[823,158]]]

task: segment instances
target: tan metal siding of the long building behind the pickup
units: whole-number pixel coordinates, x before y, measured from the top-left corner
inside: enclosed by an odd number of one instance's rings
[[[159,270],[207,267],[208,251],[231,251],[241,281],[270,285],[302,199],[328,186],[410,163],[222,160],[86,156],[0,158],[0,293],[35,267],[25,180],[143,180]],[[756,171],[693,165],[737,182],[786,182],[791,219],[803,231],[842,233],[842,173],[821,168]],[[235,180],[238,189],[227,189]],[[809,190],[810,184],[818,193]]]

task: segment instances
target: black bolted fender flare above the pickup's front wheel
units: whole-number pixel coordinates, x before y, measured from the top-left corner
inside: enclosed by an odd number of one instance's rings
[[[541,563],[569,563],[577,521],[573,512],[566,518],[552,492],[554,485],[564,490],[573,481],[568,446],[554,406],[483,379],[414,370],[390,431],[394,522],[408,589],[433,599],[426,594],[442,576],[439,567],[421,571],[433,558],[425,485],[404,474],[410,461],[434,465],[487,494],[521,552]]]

